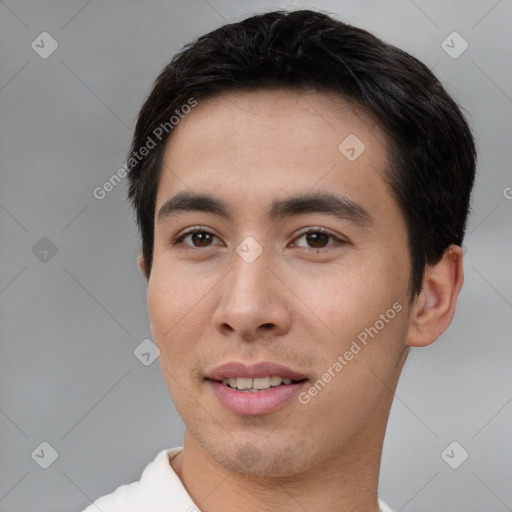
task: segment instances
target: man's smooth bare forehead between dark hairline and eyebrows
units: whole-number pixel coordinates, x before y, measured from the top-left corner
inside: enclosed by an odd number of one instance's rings
[[[391,196],[387,155],[375,120],[335,93],[222,93],[199,100],[173,129],[156,210],[183,191],[259,204],[306,191]]]

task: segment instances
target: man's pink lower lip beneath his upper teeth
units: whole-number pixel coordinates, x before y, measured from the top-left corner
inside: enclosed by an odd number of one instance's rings
[[[222,382],[208,381],[219,402],[235,414],[257,416],[268,414],[293,400],[307,383],[281,384],[262,391],[237,391]]]

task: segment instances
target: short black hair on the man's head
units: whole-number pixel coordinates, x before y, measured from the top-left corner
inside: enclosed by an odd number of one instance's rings
[[[461,245],[476,149],[455,101],[419,60],[369,32],[311,10],[273,11],[224,25],[188,43],[157,77],[142,106],[131,154],[191,98],[265,88],[334,91],[361,107],[388,139],[386,180],[404,215],[411,297],[426,265]],[[160,129],[160,132],[162,130]],[[160,134],[160,132],[158,132]],[[165,142],[129,165],[128,197],[151,272],[156,193]]]

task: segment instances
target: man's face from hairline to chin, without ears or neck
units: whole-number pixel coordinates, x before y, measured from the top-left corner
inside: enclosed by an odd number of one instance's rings
[[[175,406],[224,468],[293,474],[350,445],[379,445],[404,362],[410,280],[387,165],[375,123],[326,93],[223,94],[174,128],[148,309]],[[213,196],[229,217],[159,217],[181,192]],[[270,215],[275,202],[327,194],[342,199],[339,215],[303,203]],[[207,378],[229,362],[273,362],[307,380],[252,392]]]

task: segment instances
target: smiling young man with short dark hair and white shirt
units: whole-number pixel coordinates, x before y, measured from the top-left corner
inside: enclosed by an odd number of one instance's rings
[[[313,11],[187,45],[128,159],[183,447],[87,512],[389,511],[411,346],[450,324],[475,147],[420,62]]]

